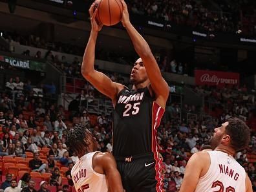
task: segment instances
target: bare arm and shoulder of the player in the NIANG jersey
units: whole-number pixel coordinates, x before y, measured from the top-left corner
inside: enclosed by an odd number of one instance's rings
[[[189,158],[179,192],[195,191],[200,178],[200,173],[202,171],[202,162],[204,162],[203,160],[207,161],[206,155],[207,154],[204,155],[202,153],[195,153],[191,156],[191,158]]]

